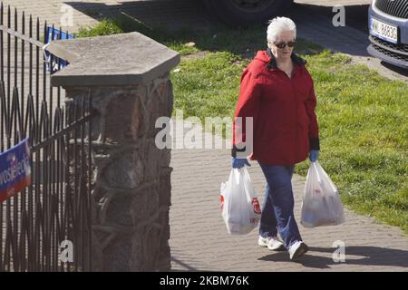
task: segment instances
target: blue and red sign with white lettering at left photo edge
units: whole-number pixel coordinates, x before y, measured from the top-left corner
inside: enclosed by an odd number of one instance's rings
[[[0,153],[0,202],[31,184],[28,138]]]

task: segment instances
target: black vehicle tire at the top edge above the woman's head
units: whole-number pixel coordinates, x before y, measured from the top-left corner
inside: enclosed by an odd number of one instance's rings
[[[204,0],[210,14],[234,26],[266,24],[267,20],[282,14],[293,0]]]

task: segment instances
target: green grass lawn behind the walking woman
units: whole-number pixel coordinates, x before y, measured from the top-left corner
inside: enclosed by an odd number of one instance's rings
[[[182,60],[171,73],[174,107],[184,118],[232,117],[242,70],[265,49],[265,27],[245,30],[168,31],[126,18],[104,20],[80,36],[140,31],[181,53],[209,52]],[[185,43],[195,43],[187,46]],[[392,82],[354,65],[343,54],[298,40],[296,52],[307,60],[315,81],[320,163],[356,212],[398,226],[408,233],[408,85]],[[307,160],[296,166],[306,176]]]

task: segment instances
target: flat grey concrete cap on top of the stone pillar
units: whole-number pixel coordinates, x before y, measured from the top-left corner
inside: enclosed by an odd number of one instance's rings
[[[70,63],[53,86],[138,85],[180,63],[179,53],[136,32],[52,41],[48,50]]]

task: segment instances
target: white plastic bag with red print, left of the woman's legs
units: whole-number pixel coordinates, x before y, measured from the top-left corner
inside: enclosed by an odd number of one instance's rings
[[[228,234],[246,235],[257,227],[261,210],[248,170],[232,169],[220,189],[222,218]]]

